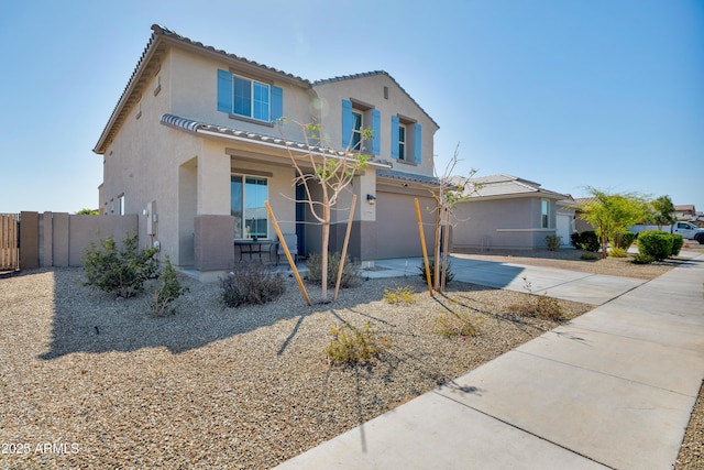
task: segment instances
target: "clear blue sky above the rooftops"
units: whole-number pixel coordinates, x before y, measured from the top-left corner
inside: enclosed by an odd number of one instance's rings
[[[0,212],[98,207],[91,152],[153,23],[304,78],[383,69],[441,173],[704,210],[704,1],[53,1],[0,6]]]

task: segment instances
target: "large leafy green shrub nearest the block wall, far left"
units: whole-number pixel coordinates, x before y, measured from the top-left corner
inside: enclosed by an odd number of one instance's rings
[[[144,291],[144,283],[156,277],[156,250],[139,249],[136,232],[125,236],[122,248],[112,236],[101,239],[100,247],[90,243],[84,256],[84,272],[89,285],[118,297],[133,297]]]

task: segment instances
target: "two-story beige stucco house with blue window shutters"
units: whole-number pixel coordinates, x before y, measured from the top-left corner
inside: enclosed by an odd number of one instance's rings
[[[152,31],[94,149],[103,155],[101,214],[139,215],[143,244],[158,242],[175,265],[205,272],[231,267],[233,240],[276,239],[268,200],[283,232],[297,233],[299,253],[319,251],[320,227],[300,203],[286,150],[288,142],[296,154],[306,151],[293,121],[319,122],[338,150],[371,128],[364,153],[372,161],[333,211],[330,250],[342,248],[354,193],[352,256],[420,254],[414,198],[432,206],[439,127],[393,77],[311,83],[158,25]],[[279,132],[282,117],[289,123]],[[432,240],[433,217],[424,212]]]

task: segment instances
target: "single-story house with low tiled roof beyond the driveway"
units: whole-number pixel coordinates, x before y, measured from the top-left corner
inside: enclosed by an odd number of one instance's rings
[[[546,237],[560,234],[563,245],[574,231],[574,212],[564,194],[510,175],[492,175],[470,181],[468,201],[454,214],[453,249],[538,249]]]

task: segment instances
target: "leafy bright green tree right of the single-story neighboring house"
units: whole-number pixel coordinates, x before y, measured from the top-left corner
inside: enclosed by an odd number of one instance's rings
[[[648,204],[637,193],[609,194],[587,188],[592,198],[580,205],[583,220],[595,227],[602,244],[602,259],[608,255],[608,240],[619,243],[622,233],[649,214]]]

